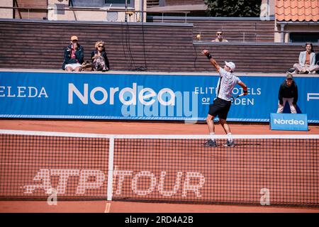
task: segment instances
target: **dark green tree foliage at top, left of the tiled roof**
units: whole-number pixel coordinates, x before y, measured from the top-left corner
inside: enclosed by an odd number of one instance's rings
[[[208,16],[259,16],[261,0],[204,0]]]

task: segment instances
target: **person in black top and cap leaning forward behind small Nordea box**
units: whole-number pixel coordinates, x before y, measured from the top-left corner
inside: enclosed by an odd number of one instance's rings
[[[280,85],[278,99],[277,114],[281,114],[284,111],[286,101],[289,103],[291,114],[297,114],[298,87],[293,80],[292,74],[287,74],[285,81]]]

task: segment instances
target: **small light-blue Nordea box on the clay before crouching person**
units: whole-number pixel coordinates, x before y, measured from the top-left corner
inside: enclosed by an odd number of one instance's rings
[[[270,129],[308,131],[307,114],[270,114]]]

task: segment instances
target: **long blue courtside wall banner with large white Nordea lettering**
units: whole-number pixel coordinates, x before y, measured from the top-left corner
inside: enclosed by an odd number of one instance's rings
[[[235,100],[228,121],[269,122],[285,77],[240,79],[248,95]],[[319,123],[319,78],[295,81],[298,113]],[[205,121],[217,83],[217,74],[0,72],[0,117]]]

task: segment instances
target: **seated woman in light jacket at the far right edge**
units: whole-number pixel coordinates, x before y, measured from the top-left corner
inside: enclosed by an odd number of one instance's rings
[[[296,69],[293,73],[313,73],[319,70],[319,65],[315,65],[315,51],[312,43],[306,43],[306,51],[301,51],[299,63],[293,65]]]

